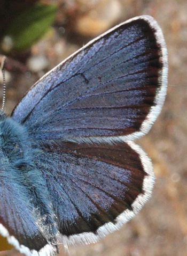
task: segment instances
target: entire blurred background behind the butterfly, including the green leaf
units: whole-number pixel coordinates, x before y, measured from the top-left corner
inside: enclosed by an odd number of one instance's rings
[[[136,218],[121,230],[99,243],[70,247],[67,254],[70,256],[187,255],[187,1],[1,0],[0,3],[0,50],[7,56],[7,114],[46,71],[95,36],[142,14],[158,21],[169,56],[165,105],[150,133],[137,141],[153,160],[157,177],[153,195]],[[1,99],[2,96],[3,86]],[[65,255],[63,246],[60,255]]]

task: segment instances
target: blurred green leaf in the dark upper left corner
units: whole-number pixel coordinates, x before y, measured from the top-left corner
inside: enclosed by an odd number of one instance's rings
[[[6,38],[12,41],[9,51],[29,48],[50,29],[56,16],[56,5],[37,3],[21,12],[7,30]]]

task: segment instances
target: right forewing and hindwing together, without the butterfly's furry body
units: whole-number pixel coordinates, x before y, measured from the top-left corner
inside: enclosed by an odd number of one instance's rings
[[[150,197],[150,159],[133,140],[157,118],[167,49],[156,21],[136,17],[85,45],[40,79],[14,109],[41,153],[64,244],[94,242]]]

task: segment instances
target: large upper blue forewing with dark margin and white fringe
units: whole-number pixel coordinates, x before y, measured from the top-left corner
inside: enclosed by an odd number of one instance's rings
[[[137,17],[50,71],[12,117],[29,127],[35,140],[137,138],[157,118],[166,86],[167,50],[161,29],[152,17]]]

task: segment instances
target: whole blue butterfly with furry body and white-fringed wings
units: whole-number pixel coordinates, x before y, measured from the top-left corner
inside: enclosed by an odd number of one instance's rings
[[[150,16],[130,19],[42,77],[0,117],[0,233],[28,256],[92,243],[150,198],[151,160],[134,143],[161,111],[167,48]]]

